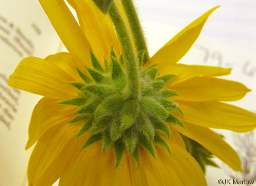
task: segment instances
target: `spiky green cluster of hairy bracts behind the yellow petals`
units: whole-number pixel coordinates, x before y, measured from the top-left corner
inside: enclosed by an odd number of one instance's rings
[[[91,134],[81,149],[101,140],[102,153],[114,148],[116,167],[124,150],[133,155],[138,165],[140,148],[147,149],[154,157],[154,144],[171,153],[159,134],[171,137],[167,123],[184,127],[180,119],[169,113],[180,112],[177,103],[166,99],[177,93],[164,90],[167,79],[174,75],[156,78],[157,65],[140,70],[140,92],[136,99],[130,96],[128,74],[121,57],[117,58],[112,50],[110,62],[105,60],[104,70],[91,51],[93,68],[86,67],[91,78],[78,69],[84,83],[70,83],[78,88],[81,97],[59,102],[79,106],[76,117],[69,122],[85,121],[77,138],[87,131]]]

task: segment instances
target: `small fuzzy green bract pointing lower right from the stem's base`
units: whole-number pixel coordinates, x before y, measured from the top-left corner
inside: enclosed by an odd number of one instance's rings
[[[167,118],[169,115],[169,113],[160,104],[149,97],[142,96],[141,104],[143,108],[152,115],[158,115],[163,118]]]

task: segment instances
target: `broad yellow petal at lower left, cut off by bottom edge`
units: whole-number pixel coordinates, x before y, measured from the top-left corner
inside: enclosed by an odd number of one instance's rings
[[[88,138],[83,135],[75,140],[81,124],[60,124],[39,139],[28,164],[29,186],[51,186],[59,179]]]

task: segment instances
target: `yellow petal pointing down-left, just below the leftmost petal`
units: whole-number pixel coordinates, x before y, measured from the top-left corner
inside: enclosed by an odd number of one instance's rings
[[[28,128],[29,149],[48,129],[59,123],[70,120],[77,109],[76,106],[56,104],[58,99],[43,97],[34,108]]]

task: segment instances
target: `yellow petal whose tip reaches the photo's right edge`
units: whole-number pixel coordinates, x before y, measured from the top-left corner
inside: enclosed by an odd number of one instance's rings
[[[186,102],[178,105],[183,120],[202,127],[247,132],[256,128],[256,114],[239,107],[216,101]]]

